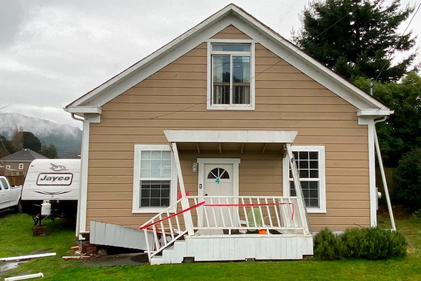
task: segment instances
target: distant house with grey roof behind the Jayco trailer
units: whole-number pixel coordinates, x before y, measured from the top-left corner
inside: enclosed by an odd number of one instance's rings
[[[29,164],[31,164],[34,159],[48,158],[28,148],[0,158],[0,160],[3,161],[3,166],[6,170],[23,171],[23,175],[26,175]]]

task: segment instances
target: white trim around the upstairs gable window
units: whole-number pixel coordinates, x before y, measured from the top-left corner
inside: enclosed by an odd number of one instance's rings
[[[254,63],[254,40],[232,40],[232,39],[210,39],[207,41],[208,43],[208,83],[207,83],[207,109],[211,110],[254,110],[255,108],[255,83],[254,83],[254,75],[255,75],[255,63]],[[211,68],[212,68],[212,60],[211,60],[211,50],[212,50],[212,43],[238,43],[244,44],[249,43],[251,44],[250,48],[250,105],[212,105],[212,76],[211,76]]]

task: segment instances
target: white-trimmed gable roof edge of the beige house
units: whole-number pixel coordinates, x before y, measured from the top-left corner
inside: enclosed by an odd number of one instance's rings
[[[375,116],[390,114],[389,108],[385,107],[374,97],[339,76],[325,65],[317,62],[295,44],[289,42],[234,4],[226,6],[63,109],[80,116],[84,116],[85,113],[101,114],[100,107],[105,103],[143,81],[200,43],[206,42],[210,37],[230,25],[235,26],[290,65],[293,65],[322,86],[330,89],[339,97],[360,109],[359,115],[373,115],[372,112],[375,112]],[[364,109],[376,109],[378,111],[372,110],[369,114],[364,113]]]

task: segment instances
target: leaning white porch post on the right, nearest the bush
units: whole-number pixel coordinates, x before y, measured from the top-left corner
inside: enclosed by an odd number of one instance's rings
[[[307,214],[307,208],[306,208],[306,204],[305,204],[305,201],[304,201],[304,195],[303,195],[303,191],[301,189],[301,183],[300,183],[300,180],[299,180],[299,177],[298,177],[297,166],[295,164],[294,154],[291,150],[291,144],[290,143],[285,144],[285,150],[287,151],[287,154],[288,154],[288,160],[290,161],[291,173],[293,175],[295,194],[297,196],[297,204],[298,204],[298,208],[300,210],[298,212],[298,214],[300,214],[302,222],[306,221],[306,223],[303,223],[304,233],[310,234],[311,233],[310,232],[310,221],[309,221],[309,217],[308,217],[308,214]],[[301,212],[301,210],[304,210],[304,213]],[[302,216],[303,214],[305,215],[304,217]]]

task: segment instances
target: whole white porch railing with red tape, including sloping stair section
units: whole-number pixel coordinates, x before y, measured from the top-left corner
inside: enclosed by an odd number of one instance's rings
[[[145,232],[149,260],[188,233],[206,235],[206,230],[220,230],[217,234],[260,233],[265,235],[308,234],[305,210],[300,210],[297,197],[282,196],[187,196],[188,209],[181,201],[149,219],[139,229]],[[177,210],[171,214],[170,210]],[[189,212],[192,221],[185,221]],[[205,232],[204,232],[205,231]],[[148,241],[153,233],[153,243]],[[214,235],[215,233],[213,233]],[[259,235],[259,234],[258,234]],[[150,246],[152,244],[152,247]]]

